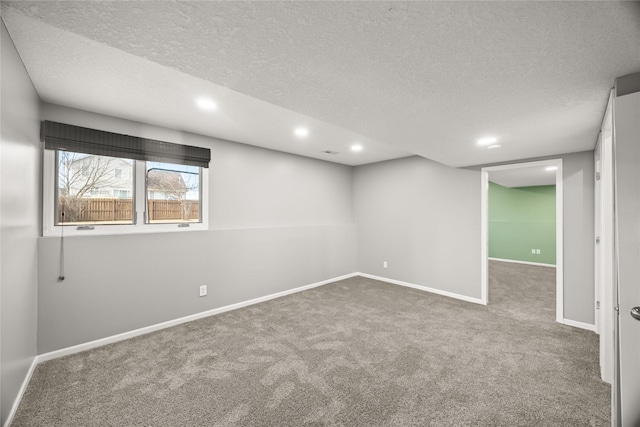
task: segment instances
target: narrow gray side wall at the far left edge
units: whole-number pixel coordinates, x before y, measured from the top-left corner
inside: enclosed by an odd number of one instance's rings
[[[0,361],[4,424],[36,356],[40,100],[2,26]]]

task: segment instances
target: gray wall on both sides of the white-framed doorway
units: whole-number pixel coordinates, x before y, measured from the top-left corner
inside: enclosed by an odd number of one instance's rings
[[[594,324],[593,152],[509,163],[548,158],[563,159],[564,317]],[[479,298],[480,168],[419,157],[356,167],[359,271]]]

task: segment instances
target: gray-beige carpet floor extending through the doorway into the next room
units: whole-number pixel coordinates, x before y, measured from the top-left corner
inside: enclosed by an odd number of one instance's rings
[[[555,271],[482,306],[362,277],[40,364],[19,426],[608,426],[598,337]]]

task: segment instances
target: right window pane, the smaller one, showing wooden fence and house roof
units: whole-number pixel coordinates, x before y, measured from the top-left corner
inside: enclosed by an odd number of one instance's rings
[[[200,168],[147,162],[147,223],[201,222]]]

